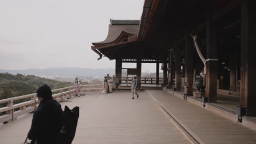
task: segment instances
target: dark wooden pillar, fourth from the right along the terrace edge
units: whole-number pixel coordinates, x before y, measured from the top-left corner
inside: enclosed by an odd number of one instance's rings
[[[175,44],[175,88],[181,91],[181,47]]]

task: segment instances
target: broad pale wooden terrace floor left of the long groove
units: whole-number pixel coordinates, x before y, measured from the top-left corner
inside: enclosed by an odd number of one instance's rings
[[[140,91],[86,95],[61,103],[79,106],[80,117],[73,143],[190,143],[165,116],[149,95]],[[0,143],[22,143],[30,129],[32,114],[0,125]]]

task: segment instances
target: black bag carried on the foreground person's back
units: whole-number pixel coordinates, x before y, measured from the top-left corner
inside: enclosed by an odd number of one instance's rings
[[[75,131],[77,130],[77,122],[79,118],[79,107],[75,106],[72,110],[70,110],[67,106],[65,106],[65,110],[62,113],[61,118],[61,130],[60,135],[57,138],[58,143],[62,144],[71,144]]]

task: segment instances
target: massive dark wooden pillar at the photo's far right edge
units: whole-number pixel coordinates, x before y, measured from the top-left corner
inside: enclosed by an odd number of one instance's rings
[[[240,106],[247,116],[256,115],[256,1],[241,1],[241,89]]]

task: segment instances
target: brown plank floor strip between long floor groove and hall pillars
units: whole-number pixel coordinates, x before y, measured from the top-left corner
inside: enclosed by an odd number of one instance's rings
[[[178,98],[166,91],[146,90],[200,143],[256,143],[256,132]]]

